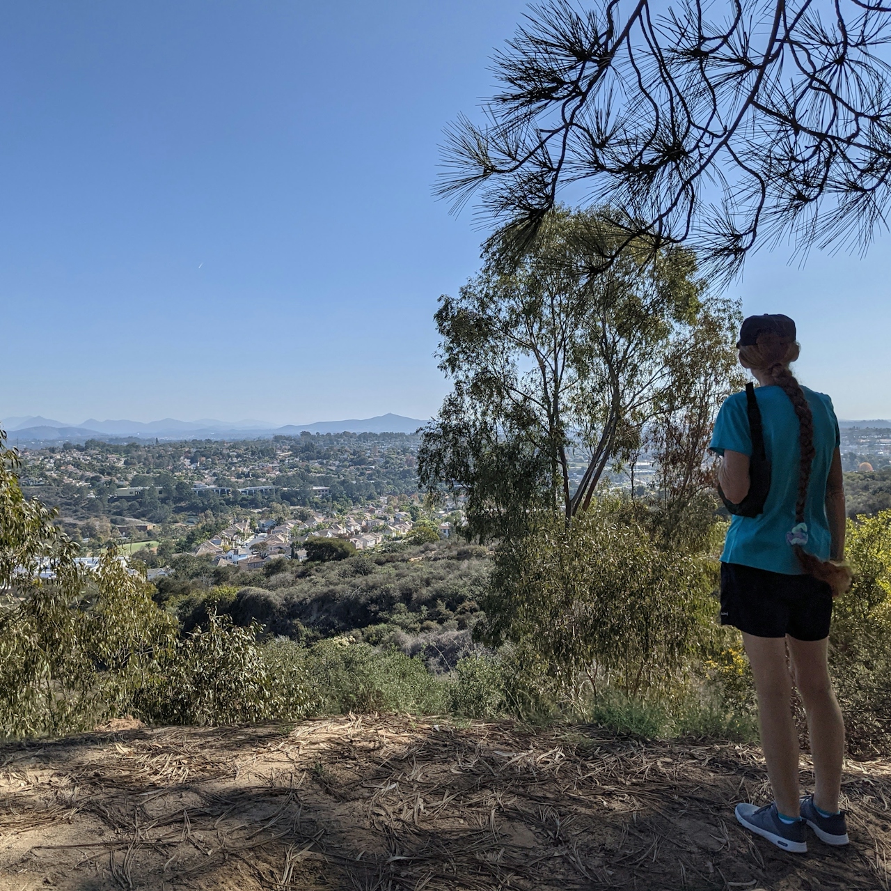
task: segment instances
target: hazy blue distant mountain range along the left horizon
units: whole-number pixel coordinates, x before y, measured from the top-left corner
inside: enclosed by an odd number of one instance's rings
[[[0,425],[11,442],[83,442],[90,439],[159,439],[159,440],[250,440],[272,436],[295,436],[308,433],[414,433],[426,421],[402,415],[379,415],[364,420],[319,421],[316,424],[276,427],[264,421],[217,421],[203,417],[197,421],[177,421],[165,417],[160,421],[97,421],[89,418],[83,424],[62,424],[48,417],[6,417]]]

